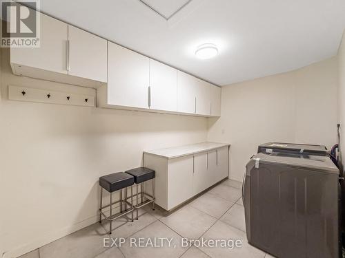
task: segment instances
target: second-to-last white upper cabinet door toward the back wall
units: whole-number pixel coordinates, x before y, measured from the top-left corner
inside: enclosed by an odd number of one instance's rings
[[[209,115],[210,114],[210,84],[204,80],[195,78],[196,80],[196,114]]]

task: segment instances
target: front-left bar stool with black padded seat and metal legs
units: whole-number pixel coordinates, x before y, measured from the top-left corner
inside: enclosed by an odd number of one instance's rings
[[[132,213],[132,222],[133,222],[133,184],[134,184],[134,177],[132,175],[129,175],[128,173],[124,172],[118,172],[118,173],[112,173],[110,175],[104,175],[101,178],[99,178],[99,185],[101,186],[101,204],[99,206],[99,223],[101,223],[102,216],[108,220],[109,222],[109,234],[112,233],[112,221],[114,219],[118,219],[119,217],[122,217],[128,213]],[[127,188],[130,186],[130,202],[127,202]],[[103,201],[103,189],[108,191],[110,193],[110,204],[106,206],[102,206]],[[125,192],[125,200],[122,198],[122,191],[126,190]],[[117,202],[112,202],[112,193],[115,191],[120,191],[120,200]],[[120,213],[112,215],[112,205],[120,203]],[[122,206],[123,203],[125,204],[125,212],[122,212]],[[130,206],[130,209],[127,210],[127,205]],[[110,215],[109,217],[103,213],[103,208],[110,207]]]

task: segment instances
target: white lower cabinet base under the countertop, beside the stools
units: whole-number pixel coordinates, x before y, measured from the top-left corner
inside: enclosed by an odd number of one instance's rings
[[[155,170],[157,205],[170,211],[228,177],[228,149],[227,145],[177,158],[145,152],[144,166]]]

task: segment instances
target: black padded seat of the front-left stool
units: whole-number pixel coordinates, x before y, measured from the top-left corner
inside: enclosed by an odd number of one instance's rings
[[[128,173],[117,172],[110,175],[103,175],[99,178],[99,185],[109,193],[124,189],[134,184],[134,177]]]

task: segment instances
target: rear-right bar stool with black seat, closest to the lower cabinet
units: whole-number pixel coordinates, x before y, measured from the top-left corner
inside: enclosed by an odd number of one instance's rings
[[[155,171],[152,169],[148,169],[146,167],[138,167],[136,169],[130,169],[125,171],[129,175],[134,177],[134,182],[137,185],[137,205],[134,206],[138,219],[138,209],[152,203],[152,209],[155,210]],[[152,195],[145,193],[145,182],[148,180],[152,180]],[[138,185],[141,185],[141,192],[138,191]],[[141,197],[141,204],[139,205],[139,194]],[[144,197],[149,197],[150,199],[144,202]]]

